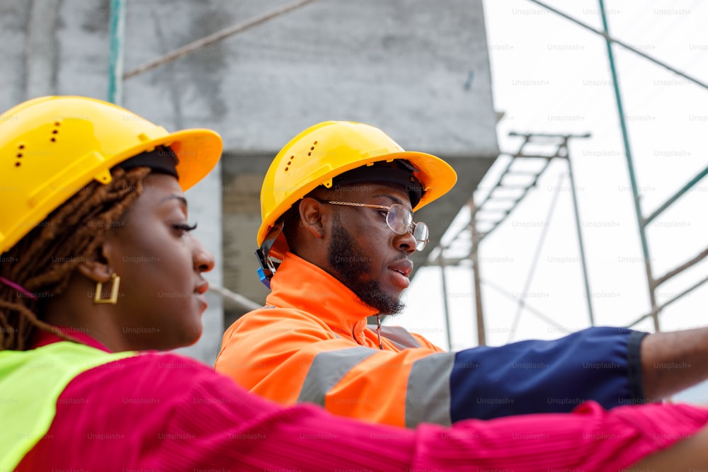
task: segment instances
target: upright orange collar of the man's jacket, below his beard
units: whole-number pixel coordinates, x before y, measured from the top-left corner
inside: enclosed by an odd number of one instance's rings
[[[312,313],[339,335],[364,339],[367,316],[377,311],[320,267],[286,253],[270,283],[268,305]]]

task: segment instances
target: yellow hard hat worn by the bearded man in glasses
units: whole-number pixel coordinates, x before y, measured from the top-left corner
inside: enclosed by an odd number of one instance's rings
[[[442,159],[422,152],[405,151],[376,127],[327,121],[305,129],[285,144],[265,173],[258,246],[263,245],[282,214],[319,185],[330,188],[332,179],[346,171],[396,159],[408,161],[415,168],[413,175],[422,184],[423,196],[413,210],[445,195],[457,180],[455,171]],[[282,239],[282,236],[275,238]],[[261,251],[264,257],[271,249],[275,255],[282,255],[282,245],[273,246],[274,243],[272,241]]]

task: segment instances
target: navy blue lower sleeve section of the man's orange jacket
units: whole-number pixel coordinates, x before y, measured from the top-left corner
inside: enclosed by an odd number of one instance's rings
[[[588,328],[553,341],[521,341],[457,352],[450,416],[489,419],[645,403],[639,345],[646,333]]]

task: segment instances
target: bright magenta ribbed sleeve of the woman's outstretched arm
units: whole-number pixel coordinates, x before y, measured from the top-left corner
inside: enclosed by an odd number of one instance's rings
[[[689,405],[607,411],[590,402],[573,413],[406,430],[314,405],[276,405],[175,355],[102,367],[67,386],[50,430],[18,471],[619,471],[638,461],[658,472],[708,467],[708,433],[688,439],[704,428],[708,410]]]

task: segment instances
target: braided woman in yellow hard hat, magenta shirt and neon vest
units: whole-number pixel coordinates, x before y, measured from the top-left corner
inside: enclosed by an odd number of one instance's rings
[[[0,471],[708,466],[708,410],[688,405],[405,430],[275,405],[155,352],[200,335],[214,261],[183,191],[221,147],[90,98],[0,116]]]

